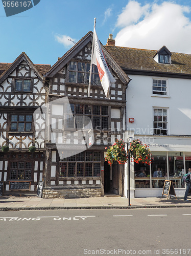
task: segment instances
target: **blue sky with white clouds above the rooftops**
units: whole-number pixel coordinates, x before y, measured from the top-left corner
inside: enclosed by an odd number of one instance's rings
[[[0,2],[0,62],[26,52],[34,63],[51,64],[88,31],[103,45],[109,33],[116,46],[191,54],[191,0],[86,1],[41,0],[20,14],[6,17]]]

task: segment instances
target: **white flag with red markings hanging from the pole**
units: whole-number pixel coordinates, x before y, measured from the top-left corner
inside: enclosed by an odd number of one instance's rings
[[[111,84],[115,83],[116,80],[113,78],[113,76],[109,71],[95,28],[93,30],[93,36],[94,36],[94,50],[93,50],[93,56],[91,58],[91,63],[98,67],[98,73],[100,76],[102,87],[105,92],[105,96],[108,99],[110,99],[109,89],[111,87]]]

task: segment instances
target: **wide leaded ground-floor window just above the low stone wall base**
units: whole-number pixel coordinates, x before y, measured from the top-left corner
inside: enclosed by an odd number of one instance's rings
[[[82,152],[60,161],[60,177],[100,177],[100,171],[100,152]]]

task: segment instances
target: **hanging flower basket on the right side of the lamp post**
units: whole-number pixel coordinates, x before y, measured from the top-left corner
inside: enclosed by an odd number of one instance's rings
[[[151,152],[147,144],[143,144],[140,140],[133,140],[129,148],[130,156],[134,158],[135,163],[151,163]]]

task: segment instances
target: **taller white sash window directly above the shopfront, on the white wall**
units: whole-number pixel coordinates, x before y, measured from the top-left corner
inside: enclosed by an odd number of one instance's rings
[[[155,119],[155,116],[154,115],[154,111],[157,110],[157,113],[159,112],[159,110],[162,111],[162,120],[159,120],[159,115],[157,115],[157,120],[154,120]],[[166,116],[163,115],[163,111],[166,111]],[[166,121],[163,121],[163,116],[166,117]],[[168,135],[168,116],[169,116],[169,109],[168,108],[161,108],[161,107],[153,107],[153,135]],[[157,124],[157,127],[155,127],[155,123]],[[166,128],[163,128],[163,127],[160,127],[159,126],[159,123],[161,123],[161,125],[163,126],[163,124],[166,124]],[[155,132],[156,131],[159,131],[159,133]],[[161,131],[166,131],[164,133],[161,133]]]

